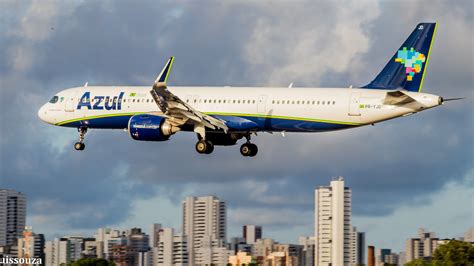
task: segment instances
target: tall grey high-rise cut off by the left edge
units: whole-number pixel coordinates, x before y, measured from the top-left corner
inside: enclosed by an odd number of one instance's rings
[[[15,246],[26,225],[26,197],[0,189],[0,246]]]

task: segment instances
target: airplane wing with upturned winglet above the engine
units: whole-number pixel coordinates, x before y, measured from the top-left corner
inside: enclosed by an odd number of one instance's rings
[[[221,129],[227,133],[229,128],[225,124],[225,121],[199,112],[168,90],[166,80],[168,79],[173,61],[174,57],[170,57],[156,78],[153,89],[150,91],[160,110],[168,118],[169,122],[175,126],[181,126],[187,123],[195,127]]]

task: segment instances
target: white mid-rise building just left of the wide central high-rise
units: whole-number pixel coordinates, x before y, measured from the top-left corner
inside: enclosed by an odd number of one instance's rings
[[[159,233],[158,253],[154,265],[188,265],[187,240],[175,235],[173,228],[162,228]]]

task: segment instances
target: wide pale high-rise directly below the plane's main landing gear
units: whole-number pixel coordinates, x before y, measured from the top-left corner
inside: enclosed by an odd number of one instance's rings
[[[215,196],[187,197],[183,202],[183,233],[187,237],[189,264],[194,265],[201,241],[211,238],[226,241],[225,202]]]

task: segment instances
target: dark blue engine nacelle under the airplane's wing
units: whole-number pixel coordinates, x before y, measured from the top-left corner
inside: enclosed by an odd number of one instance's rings
[[[157,115],[134,115],[128,121],[128,132],[134,140],[165,141],[179,130]]]

